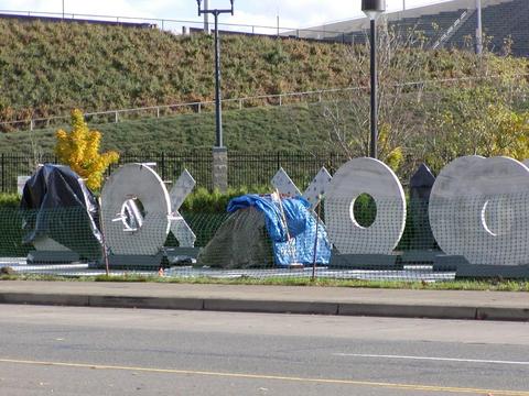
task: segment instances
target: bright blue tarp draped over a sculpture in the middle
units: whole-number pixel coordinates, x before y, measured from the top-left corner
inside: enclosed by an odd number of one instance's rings
[[[255,207],[263,213],[268,234],[272,241],[273,257],[276,264],[281,266],[314,263],[317,226],[316,263],[328,264],[331,244],[327,232],[321,223],[317,224],[309,209],[311,207],[309,201],[301,197],[283,198],[281,206],[282,211],[279,202],[274,202],[270,196],[249,194],[231,199],[227,211],[231,213],[239,209]],[[287,224],[284,224],[282,212],[284,212]]]

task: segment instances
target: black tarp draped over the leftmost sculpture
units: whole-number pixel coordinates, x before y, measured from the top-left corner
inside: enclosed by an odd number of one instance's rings
[[[99,205],[68,166],[40,167],[24,186],[20,209],[24,243],[47,237],[84,258],[100,256]]]

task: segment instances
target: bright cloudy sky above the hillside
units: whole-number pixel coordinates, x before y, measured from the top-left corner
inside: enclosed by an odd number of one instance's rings
[[[387,0],[388,11],[446,0]],[[134,18],[201,21],[196,0],[0,0],[0,10],[55,12],[66,14],[122,15]],[[235,0],[235,15],[220,16],[223,23],[284,28],[309,28],[325,22],[363,16],[360,0]],[[209,8],[229,8],[229,0],[209,0]],[[165,26],[166,28],[166,26]]]

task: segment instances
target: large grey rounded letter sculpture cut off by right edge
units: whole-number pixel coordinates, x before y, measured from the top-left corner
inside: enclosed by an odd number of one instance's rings
[[[508,157],[465,156],[446,165],[430,195],[441,250],[471,264],[529,262],[529,169]]]

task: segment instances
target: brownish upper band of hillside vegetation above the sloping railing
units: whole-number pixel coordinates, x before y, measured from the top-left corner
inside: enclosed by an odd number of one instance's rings
[[[223,37],[225,98],[367,85],[366,50],[343,44]],[[156,29],[0,19],[0,121],[212,100],[214,42]],[[384,57],[381,57],[384,61]],[[465,52],[398,52],[396,81],[495,74]],[[526,62],[509,59],[526,72]],[[409,67],[407,67],[407,65]],[[521,73],[520,73],[521,74]]]

